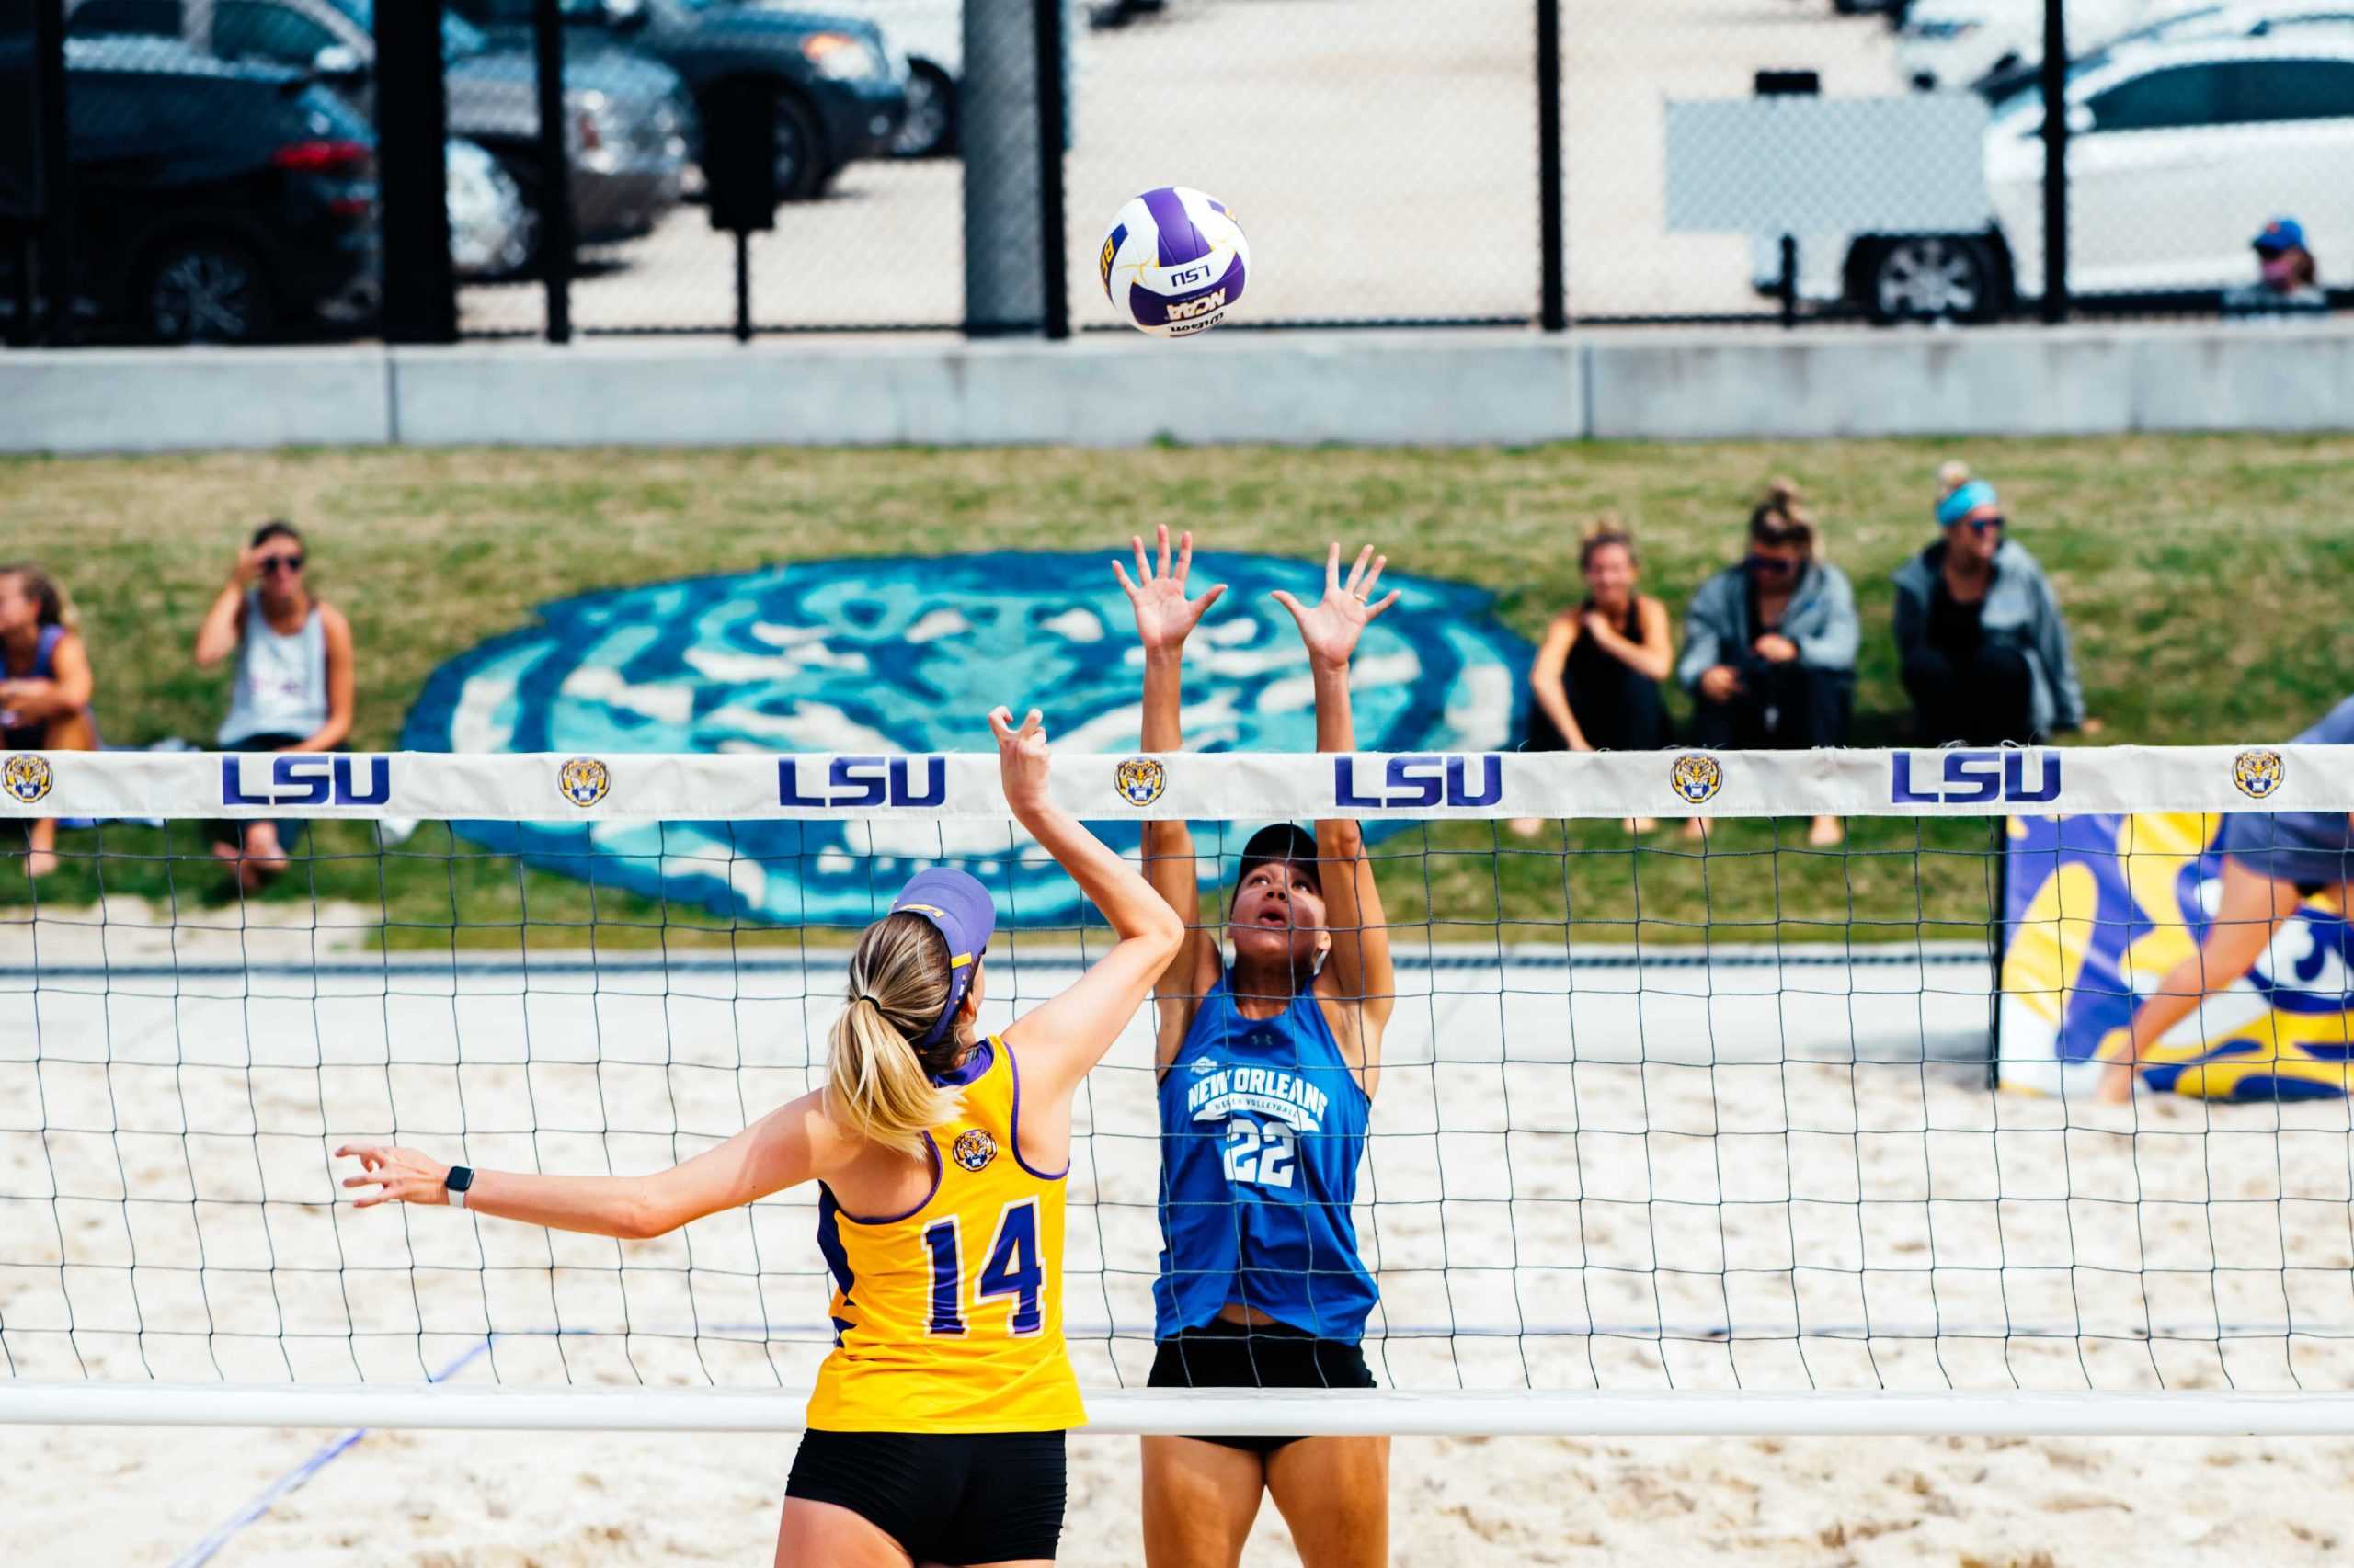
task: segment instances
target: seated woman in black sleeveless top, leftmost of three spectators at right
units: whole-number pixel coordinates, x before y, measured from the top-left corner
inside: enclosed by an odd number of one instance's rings
[[[1587,598],[1554,617],[1528,671],[1528,751],[1657,751],[1669,742],[1660,683],[1676,662],[1667,605],[1636,593],[1634,534],[1615,513],[1587,525],[1577,549]],[[1657,826],[1629,817],[1629,833]],[[1511,829],[1530,836],[1537,817]]]

